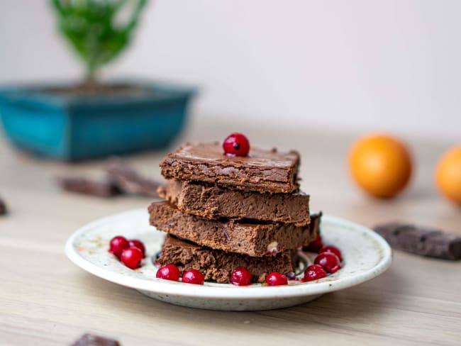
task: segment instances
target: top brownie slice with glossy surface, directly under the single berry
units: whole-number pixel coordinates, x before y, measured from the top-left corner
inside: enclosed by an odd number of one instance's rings
[[[218,143],[187,144],[160,163],[167,179],[270,193],[296,191],[298,165],[299,154],[295,151],[252,148],[248,157],[228,157]]]

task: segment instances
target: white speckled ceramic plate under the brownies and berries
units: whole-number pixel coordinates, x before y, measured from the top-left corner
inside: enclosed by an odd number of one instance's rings
[[[116,284],[137,289],[146,296],[193,308],[213,310],[268,310],[311,301],[322,294],[361,284],[382,274],[391,264],[391,249],[372,230],[333,216],[323,216],[323,242],[343,253],[340,271],[318,281],[287,286],[255,284],[182,284],[155,278],[151,257],[161,248],[165,233],[148,225],[147,211],[140,209],[89,223],[67,240],[67,256],[87,272]],[[115,235],[143,240],[147,256],[143,267],[131,270],[107,252]],[[294,281],[293,281],[294,282]]]

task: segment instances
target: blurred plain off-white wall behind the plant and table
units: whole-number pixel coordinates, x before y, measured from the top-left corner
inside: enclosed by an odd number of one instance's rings
[[[0,83],[78,79],[48,1],[0,2]],[[106,77],[195,84],[199,121],[460,139],[459,0],[157,0]]]

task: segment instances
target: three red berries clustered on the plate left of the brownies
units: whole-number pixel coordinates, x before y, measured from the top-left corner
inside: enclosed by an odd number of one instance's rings
[[[145,257],[143,242],[137,239],[128,240],[121,235],[117,235],[111,239],[109,252],[116,255],[130,269],[139,268],[141,261]]]

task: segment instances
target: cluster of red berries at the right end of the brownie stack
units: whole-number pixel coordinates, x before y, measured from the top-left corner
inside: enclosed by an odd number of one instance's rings
[[[328,274],[333,274],[341,269],[343,257],[340,250],[333,245],[324,246],[320,235],[317,235],[317,238],[303,250],[318,253],[313,260],[314,264],[306,268],[304,278],[301,279],[303,282],[322,279]]]

